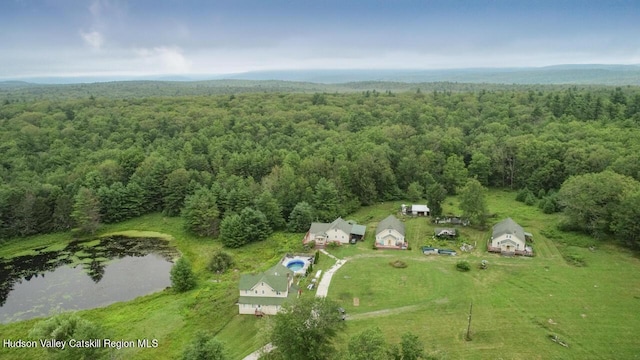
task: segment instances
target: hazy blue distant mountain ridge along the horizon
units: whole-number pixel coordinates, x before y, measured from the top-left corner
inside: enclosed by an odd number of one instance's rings
[[[640,85],[640,65],[577,64],[528,68],[466,68],[466,69],[311,69],[251,71],[223,75],[156,75],[156,76],[84,76],[38,77],[11,79],[36,84],[86,84],[115,81],[191,82],[204,80],[276,80],[317,84],[344,84],[363,81],[402,83],[487,83],[521,85]],[[0,82],[6,88],[7,82]]]

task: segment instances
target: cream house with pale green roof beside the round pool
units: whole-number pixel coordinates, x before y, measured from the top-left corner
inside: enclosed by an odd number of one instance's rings
[[[293,271],[278,264],[259,274],[240,277],[240,314],[275,315],[287,300],[297,296],[293,285]]]

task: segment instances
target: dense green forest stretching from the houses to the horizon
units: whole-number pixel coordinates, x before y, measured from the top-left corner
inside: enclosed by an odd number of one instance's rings
[[[5,88],[0,238],[162,211],[240,246],[361,205],[437,202],[475,178],[637,244],[640,89],[476,86],[137,98]]]

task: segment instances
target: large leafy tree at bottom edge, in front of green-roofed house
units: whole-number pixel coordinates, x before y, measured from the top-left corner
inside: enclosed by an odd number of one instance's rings
[[[332,340],[344,327],[339,305],[325,297],[301,297],[274,317],[271,343],[285,360],[323,360],[335,353]]]

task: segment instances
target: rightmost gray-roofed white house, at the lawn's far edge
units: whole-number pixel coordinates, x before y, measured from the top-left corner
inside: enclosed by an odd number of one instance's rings
[[[493,226],[487,248],[490,252],[503,255],[533,256],[533,249],[527,246],[527,238],[530,236],[531,234],[526,233],[513,219],[506,218]]]

